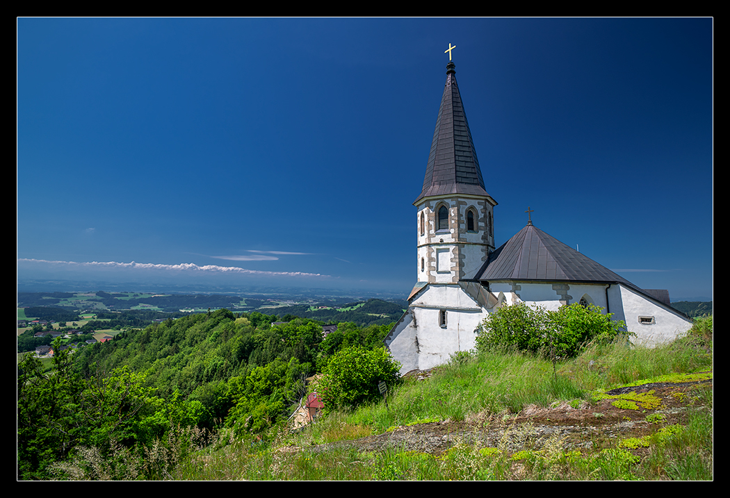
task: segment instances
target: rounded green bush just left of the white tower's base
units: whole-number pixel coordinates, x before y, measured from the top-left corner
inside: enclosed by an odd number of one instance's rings
[[[393,386],[399,381],[400,363],[385,348],[353,346],[337,351],[323,370],[321,396],[326,412],[349,408],[380,396],[377,384]]]

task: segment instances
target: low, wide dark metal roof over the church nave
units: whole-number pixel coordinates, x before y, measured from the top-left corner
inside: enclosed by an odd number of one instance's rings
[[[531,223],[489,254],[477,279],[621,283],[644,292]]]

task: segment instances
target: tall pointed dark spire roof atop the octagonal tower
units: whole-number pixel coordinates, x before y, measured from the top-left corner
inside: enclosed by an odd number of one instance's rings
[[[456,66],[446,66],[446,85],[436,121],[426,178],[418,199],[432,195],[467,194],[489,197],[456,85]]]

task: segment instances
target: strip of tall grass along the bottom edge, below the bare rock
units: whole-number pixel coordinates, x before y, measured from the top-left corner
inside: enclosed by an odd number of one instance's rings
[[[699,432],[689,429],[693,424]],[[575,451],[553,435],[540,448],[510,451],[520,442],[520,429],[504,432],[495,448],[456,443],[444,454],[387,448],[360,452],[355,446],[295,448],[272,445],[254,448],[237,441],[213,454],[201,454],[178,468],[178,479],[198,480],[379,480],[379,481],[500,481],[500,480],[639,480],[712,479],[712,451],[707,446],[707,419],[695,414],[688,428],[657,440],[641,461],[622,448]]]

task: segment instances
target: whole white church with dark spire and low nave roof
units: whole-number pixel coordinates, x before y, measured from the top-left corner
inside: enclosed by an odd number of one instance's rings
[[[385,338],[401,375],[474,349],[485,317],[520,302],[550,310],[599,306],[648,346],[672,341],[692,325],[669,305],[666,290],[640,289],[531,221],[496,248],[497,202],[485,190],[451,61],[423,188],[413,204],[417,283],[407,311]]]

